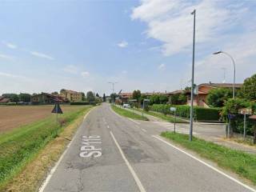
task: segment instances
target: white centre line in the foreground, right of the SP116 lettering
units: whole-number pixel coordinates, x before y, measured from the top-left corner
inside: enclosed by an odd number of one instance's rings
[[[114,138],[114,134],[112,133],[112,131],[110,131],[110,134],[111,134],[111,137],[112,137],[113,140],[114,140],[115,145],[118,147],[118,150],[119,150],[120,154],[122,155],[123,160],[126,162],[126,166],[128,166],[128,169],[130,170],[130,173],[133,175],[134,180],[135,180],[135,182],[136,182],[136,184],[137,184],[137,186],[138,186],[138,189],[139,189],[141,192],[146,192],[144,186],[142,186],[142,182],[139,180],[137,174],[135,173],[134,168],[133,168],[132,166],[130,166],[130,162],[128,162],[128,160],[126,159],[125,154],[123,154],[122,149],[121,149],[121,147],[119,146],[117,140]]]

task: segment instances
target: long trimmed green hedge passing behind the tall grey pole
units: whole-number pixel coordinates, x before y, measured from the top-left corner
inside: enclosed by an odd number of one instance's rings
[[[163,105],[154,104],[149,106],[150,110],[157,111],[163,114],[174,114],[174,111],[170,111],[170,107],[176,107],[176,114],[182,118],[190,118],[190,106],[174,106],[174,105]],[[204,108],[200,106],[194,106],[194,119],[196,121],[219,121],[220,119],[219,108]]]

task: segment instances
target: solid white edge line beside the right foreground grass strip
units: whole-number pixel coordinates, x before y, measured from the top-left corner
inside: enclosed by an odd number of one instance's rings
[[[215,168],[214,166],[210,166],[208,163],[203,162],[201,159],[194,157],[194,155],[187,153],[185,150],[179,149],[177,146],[174,146],[172,144],[170,144],[170,142],[166,142],[165,140],[163,140],[162,138],[159,138],[158,136],[155,135],[151,135],[153,138],[157,138],[159,141],[166,143],[168,146],[172,146],[174,149],[179,150],[180,152],[182,152],[183,154],[186,154],[188,156],[190,156],[190,158],[194,158],[194,160],[197,160],[198,162],[201,162],[203,165],[208,166],[210,169],[215,170],[216,172],[218,172],[219,174],[222,174],[223,176],[225,176],[226,178],[230,178],[230,180],[232,180],[233,182],[237,182],[239,185],[245,187],[247,190],[251,190],[256,192],[256,190],[254,190],[254,188],[247,186],[246,184],[239,182],[237,179],[232,178],[230,175],[225,174],[224,172],[222,172],[221,170],[218,170],[217,168]]]

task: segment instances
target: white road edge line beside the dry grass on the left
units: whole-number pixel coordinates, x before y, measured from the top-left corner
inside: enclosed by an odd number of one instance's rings
[[[91,109],[91,110],[93,110],[93,109]],[[90,111],[85,115],[85,117],[83,119],[87,118],[88,114],[90,114]],[[75,137],[75,135],[74,135],[74,137]],[[50,178],[53,176],[55,170],[57,170],[57,167],[58,167],[59,163],[62,161],[62,158],[65,156],[66,151],[70,148],[70,145],[74,142],[74,137],[72,138],[71,142],[66,146],[66,150],[63,152],[61,157],[58,159],[58,162],[56,162],[55,166],[50,170],[50,173],[47,175],[47,178],[42,183],[42,186],[40,186],[38,192],[43,192],[43,190],[45,190],[47,184],[50,182]]]

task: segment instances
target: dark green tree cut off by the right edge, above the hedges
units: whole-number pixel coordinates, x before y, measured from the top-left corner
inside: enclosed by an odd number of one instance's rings
[[[250,101],[256,100],[256,74],[250,78],[246,78],[246,80],[243,82],[241,96],[242,98],[246,98]]]

